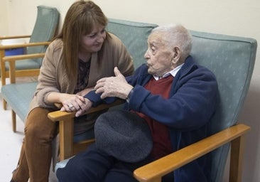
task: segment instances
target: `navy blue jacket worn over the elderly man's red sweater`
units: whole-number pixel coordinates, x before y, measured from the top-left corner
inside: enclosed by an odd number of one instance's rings
[[[134,92],[129,97],[129,103],[126,102],[125,109],[142,112],[157,122],[166,124],[174,151],[207,137],[217,103],[215,75],[207,68],[197,65],[189,56],[173,79],[169,98],[164,99],[160,95],[152,95],[143,87],[152,77],[147,70],[147,65],[143,64],[134,75],[126,77],[129,84],[134,86]],[[94,102],[94,105],[114,100],[109,97],[102,101],[94,92],[85,97]],[[210,164],[210,154],[202,156],[175,170],[175,182],[209,181]]]

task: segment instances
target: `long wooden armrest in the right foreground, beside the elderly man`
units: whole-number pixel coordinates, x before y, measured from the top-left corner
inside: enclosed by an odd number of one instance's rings
[[[249,129],[250,127],[244,124],[237,124],[224,129],[217,134],[197,141],[195,144],[175,151],[173,154],[137,168],[134,171],[134,176],[138,181],[161,181],[161,177],[167,173],[188,164],[190,161],[194,161],[223,144],[227,144],[229,141],[242,137]]]

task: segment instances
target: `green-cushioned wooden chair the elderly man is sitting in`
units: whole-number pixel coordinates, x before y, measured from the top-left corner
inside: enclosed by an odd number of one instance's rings
[[[256,40],[197,31],[191,31],[191,33],[193,35],[191,55],[198,63],[215,73],[219,85],[220,103],[217,103],[217,111],[212,118],[212,136],[153,161],[151,164],[137,168],[134,176],[138,181],[161,181],[161,177],[166,173],[175,171],[190,161],[212,152],[210,181],[220,182],[229,149],[231,154],[229,181],[241,181],[242,179],[244,140],[250,127],[237,124],[237,118],[242,110],[254,70]],[[90,112],[97,109],[99,108],[93,108]],[[72,146],[63,146],[65,141],[69,141],[68,145],[73,143],[73,139],[67,133],[72,135],[74,116],[75,113],[59,111],[49,114],[53,121],[60,120],[60,129],[62,128],[60,132],[63,132],[60,136],[61,140],[64,140],[60,144],[60,159],[67,159],[75,154]],[[58,168],[65,166],[66,162],[67,160],[60,161]],[[190,181],[192,180],[190,179]]]

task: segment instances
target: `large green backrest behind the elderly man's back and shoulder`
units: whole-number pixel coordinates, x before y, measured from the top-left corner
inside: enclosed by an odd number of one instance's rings
[[[237,123],[244,99],[249,89],[256,58],[256,40],[235,36],[191,31],[193,58],[212,70],[220,91],[212,134]],[[229,144],[212,152],[212,181],[222,181]]]

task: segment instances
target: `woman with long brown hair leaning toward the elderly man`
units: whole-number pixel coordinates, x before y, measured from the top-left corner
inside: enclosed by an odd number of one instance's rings
[[[83,96],[99,78],[114,75],[115,66],[124,75],[134,72],[131,56],[119,38],[105,31],[106,26],[106,16],[92,1],[70,6],[60,35],[46,50],[11,181],[48,181],[57,126],[47,115],[58,109],[55,103],[79,117],[86,109]]]

